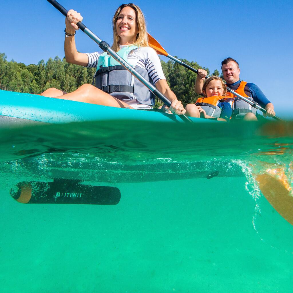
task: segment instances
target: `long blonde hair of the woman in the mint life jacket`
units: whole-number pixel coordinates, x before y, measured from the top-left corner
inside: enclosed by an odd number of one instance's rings
[[[137,28],[139,31],[136,36],[136,41],[133,43],[133,45],[136,45],[137,47],[149,46],[148,37],[147,37],[147,26],[146,26],[146,22],[144,19],[144,14],[140,10],[140,8],[133,3],[122,4],[117,8],[117,10],[113,16],[113,45],[112,45],[112,49],[115,52],[118,52],[120,50],[120,46],[119,46],[120,37],[116,31],[116,22],[118,20],[118,16],[119,16],[121,10],[127,6],[131,7],[135,11]]]

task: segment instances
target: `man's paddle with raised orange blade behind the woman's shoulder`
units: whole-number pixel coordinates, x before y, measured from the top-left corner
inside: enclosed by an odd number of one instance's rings
[[[195,72],[196,74],[198,74],[197,69],[189,66],[188,64],[184,63],[183,61],[171,56],[170,54],[168,54],[166,52],[166,50],[159,44],[159,42],[155,38],[153,38],[150,34],[148,34],[148,38],[149,38],[149,46],[152,47],[154,50],[156,50],[156,52],[158,54],[166,56],[166,57],[170,58],[171,60],[179,63],[180,65],[182,65],[182,66],[188,68],[189,70]],[[208,77],[206,76],[205,78],[207,79]],[[262,111],[263,113],[267,112],[267,110],[265,110],[264,108],[260,107],[260,105],[258,105],[258,103],[254,102],[254,101],[252,102],[251,100],[239,95],[239,93],[236,93],[235,91],[231,90],[231,88],[227,87],[227,91],[229,91],[233,95],[237,96],[239,99],[244,100],[246,103],[250,104],[251,107],[258,109],[258,110]],[[279,118],[277,116],[274,116],[272,118],[274,118],[275,120],[282,120],[281,118]]]

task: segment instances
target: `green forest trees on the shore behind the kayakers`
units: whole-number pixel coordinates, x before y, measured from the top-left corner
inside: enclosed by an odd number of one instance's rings
[[[182,60],[195,69],[204,68],[196,62]],[[161,64],[167,82],[178,100],[184,105],[194,103],[198,97],[193,90],[196,74],[171,60],[161,60]],[[205,69],[209,74],[209,69]],[[0,53],[0,89],[39,94],[54,87],[69,93],[82,84],[91,84],[95,70],[67,63],[65,58],[61,60],[57,56],[47,62],[41,60],[38,64],[25,65],[13,60],[7,61],[6,55]],[[219,76],[219,71],[216,69],[212,75]],[[156,106],[159,105],[161,102],[156,101]]]

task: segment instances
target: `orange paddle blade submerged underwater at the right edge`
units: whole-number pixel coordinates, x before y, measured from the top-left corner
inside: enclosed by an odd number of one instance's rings
[[[282,180],[277,180],[269,174],[256,177],[263,195],[272,207],[291,225],[293,225],[293,196],[291,190]]]

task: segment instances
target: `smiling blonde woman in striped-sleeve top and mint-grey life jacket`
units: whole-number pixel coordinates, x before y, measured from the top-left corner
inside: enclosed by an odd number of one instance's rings
[[[69,63],[97,67],[96,87],[84,84],[72,93],[49,88],[42,95],[118,108],[152,108],[153,94],[128,71],[126,73],[126,70],[107,53],[100,55],[97,52],[77,52],[74,35],[79,29],[76,23],[82,20],[80,13],[72,9],[68,11],[65,19],[65,58]],[[144,15],[138,6],[130,3],[117,8],[113,17],[113,40],[112,49],[126,58],[137,71],[145,74],[147,79],[171,101],[170,111],[176,115],[185,114],[182,103],[177,100],[166,82],[158,55],[148,47]],[[107,84],[108,80],[111,82]]]

